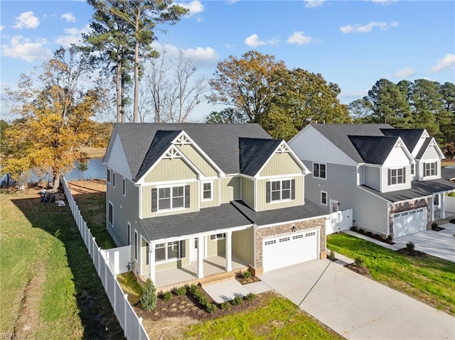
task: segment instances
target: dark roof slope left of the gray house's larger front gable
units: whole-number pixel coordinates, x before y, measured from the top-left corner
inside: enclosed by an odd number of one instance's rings
[[[348,136],[365,163],[383,164],[398,137]]]

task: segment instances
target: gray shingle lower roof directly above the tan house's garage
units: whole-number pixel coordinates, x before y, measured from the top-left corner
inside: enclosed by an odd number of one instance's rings
[[[268,224],[285,223],[287,221],[328,215],[326,209],[322,209],[308,199],[305,199],[305,205],[303,206],[299,205],[296,207],[264,210],[263,212],[255,212],[243,201],[233,201],[231,203],[258,226],[267,226]]]

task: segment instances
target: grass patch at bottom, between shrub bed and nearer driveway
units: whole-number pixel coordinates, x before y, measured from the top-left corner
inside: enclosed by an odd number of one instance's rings
[[[344,339],[309,315],[297,310],[286,324],[296,305],[284,297],[269,294],[264,304],[249,312],[195,324],[184,339]]]

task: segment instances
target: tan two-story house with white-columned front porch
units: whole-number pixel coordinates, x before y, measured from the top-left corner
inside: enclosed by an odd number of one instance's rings
[[[326,256],[326,212],[304,197],[309,170],[257,124],[116,124],[107,230],[132,245],[132,270],[156,273],[232,256],[256,275]]]

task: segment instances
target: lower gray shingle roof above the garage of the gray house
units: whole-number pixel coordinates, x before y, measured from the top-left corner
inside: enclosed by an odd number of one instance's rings
[[[411,189],[397,190],[392,192],[379,192],[366,185],[361,185],[366,190],[377,194],[379,197],[387,199],[390,202],[406,201],[408,199],[417,199],[419,197],[427,197],[438,192],[446,192],[455,190],[455,183],[448,180],[425,180],[411,182]]]

